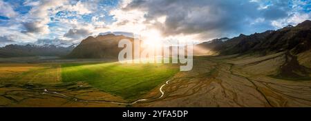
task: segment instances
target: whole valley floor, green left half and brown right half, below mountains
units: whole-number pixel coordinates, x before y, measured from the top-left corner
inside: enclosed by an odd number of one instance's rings
[[[310,51],[301,56],[308,53]],[[2,63],[0,105],[310,107],[311,80],[270,76],[279,74],[285,56],[285,52],[268,56],[195,56],[194,69],[189,72],[178,72],[175,65],[121,65],[91,63],[92,60]],[[308,63],[310,60],[299,61],[307,68]],[[311,76],[310,72],[308,76]]]

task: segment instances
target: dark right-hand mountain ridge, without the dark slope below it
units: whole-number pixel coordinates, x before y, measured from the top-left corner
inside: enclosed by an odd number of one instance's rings
[[[217,52],[220,55],[230,54],[274,54],[277,52],[290,51],[299,54],[310,50],[311,47],[311,21],[303,21],[295,27],[288,25],[280,30],[268,30],[249,36],[240,36],[227,41],[214,39],[200,43],[198,47]]]

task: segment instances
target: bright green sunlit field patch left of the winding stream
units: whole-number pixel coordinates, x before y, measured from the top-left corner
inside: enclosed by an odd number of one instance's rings
[[[84,81],[126,100],[136,100],[179,71],[173,65],[120,63],[62,64],[62,81]]]

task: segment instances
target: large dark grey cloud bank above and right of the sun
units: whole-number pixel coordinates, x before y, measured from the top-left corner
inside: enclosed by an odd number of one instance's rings
[[[238,34],[248,29],[258,18],[274,20],[287,17],[285,1],[276,1],[270,7],[260,8],[258,2],[245,0],[134,0],[124,10],[147,11],[148,21],[166,16],[166,21],[154,23],[164,35],[202,34],[221,36],[226,33]]]

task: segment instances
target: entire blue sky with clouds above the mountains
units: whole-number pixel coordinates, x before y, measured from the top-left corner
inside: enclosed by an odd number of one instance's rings
[[[310,0],[0,0],[0,46],[79,43],[104,32],[209,41],[307,19]]]

